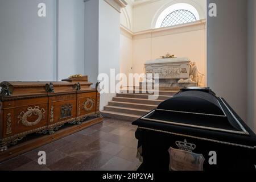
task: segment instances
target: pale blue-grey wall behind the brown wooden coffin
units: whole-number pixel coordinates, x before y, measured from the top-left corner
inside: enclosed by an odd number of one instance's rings
[[[47,16],[38,17],[46,3]],[[84,73],[83,0],[0,0],[0,81]]]

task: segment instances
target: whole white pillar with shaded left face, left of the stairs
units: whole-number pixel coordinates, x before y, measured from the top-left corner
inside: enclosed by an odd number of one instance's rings
[[[120,12],[126,5],[123,0],[85,1],[85,73],[94,84],[99,73],[110,79],[111,69],[120,72]],[[102,94],[100,109],[114,96]]]

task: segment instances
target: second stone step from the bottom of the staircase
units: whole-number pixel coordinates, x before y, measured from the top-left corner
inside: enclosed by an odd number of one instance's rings
[[[134,109],[130,107],[118,107],[118,106],[105,106],[104,110],[106,111],[113,111],[117,113],[126,113],[126,114],[135,114],[135,115],[146,115],[151,110],[144,110],[144,109]]]

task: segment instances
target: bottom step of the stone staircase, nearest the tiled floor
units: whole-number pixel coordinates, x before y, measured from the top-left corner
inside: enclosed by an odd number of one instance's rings
[[[141,115],[117,113],[114,111],[107,111],[107,110],[101,111],[101,114],[104,117],[121,119],[121,120],[125,120],[125,121],[135,121],[136,119],[141,118]]]

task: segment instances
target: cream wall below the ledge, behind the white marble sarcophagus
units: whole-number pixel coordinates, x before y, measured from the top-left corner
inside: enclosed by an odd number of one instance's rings
[[[147,60],[159,59],[167,52],[177,57],[188,57],[197,63],[199,71],[205,75],[205,22],[162,28],[134,36],[133,72],[144,73]]]

